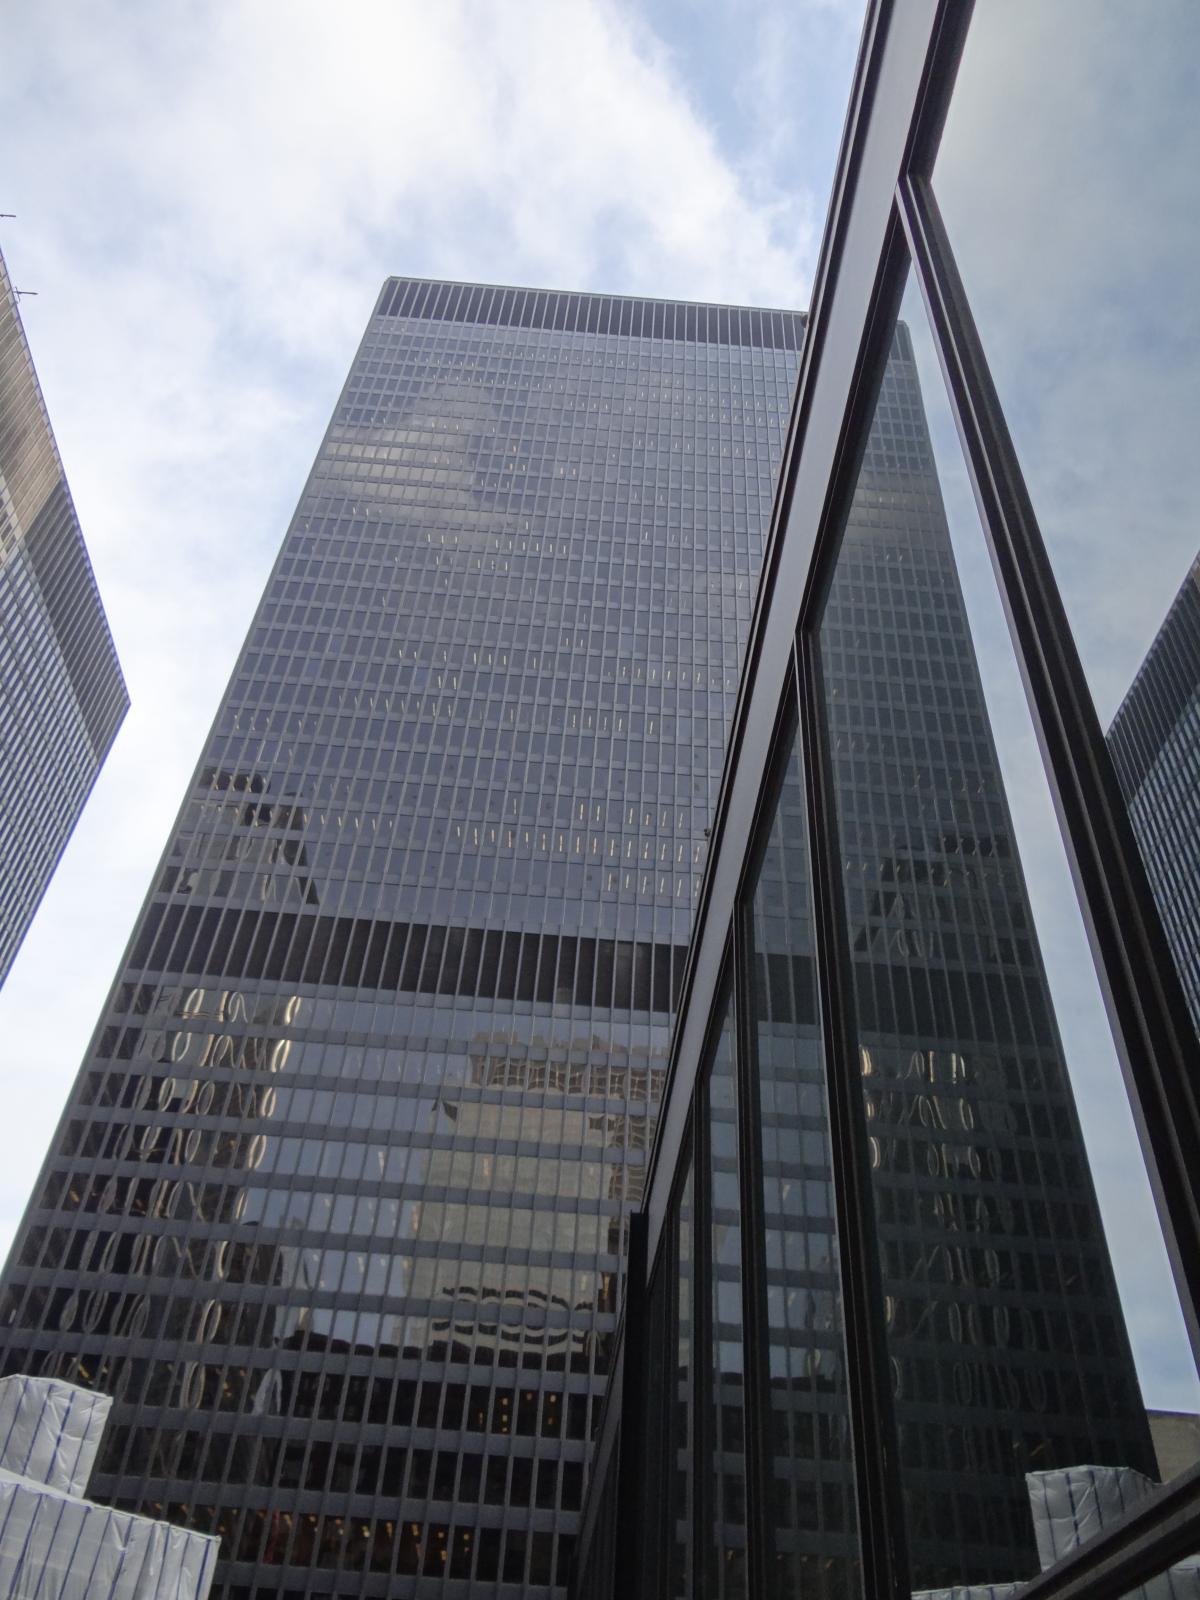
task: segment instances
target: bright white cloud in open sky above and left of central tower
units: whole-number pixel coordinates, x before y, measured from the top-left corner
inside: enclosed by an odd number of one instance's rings
[[[682,51],[598,0],[96,0],[5,34],[3,243],[133,710],[0,995],[0,1246],[382,278],[803,306],[824,210],[808,168],[747,178]]]

